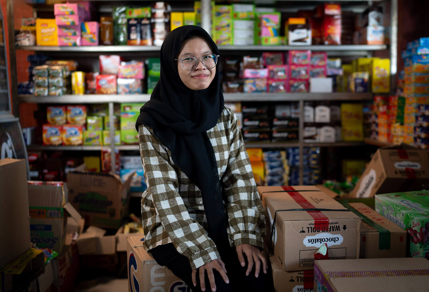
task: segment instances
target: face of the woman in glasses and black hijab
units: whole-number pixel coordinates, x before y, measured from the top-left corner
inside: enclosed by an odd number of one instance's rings
[[[184,42],[183,48],[179,53],[178,59],[186,56],[195,56],[197,58],[204,57],[206,54],[211,54],[211,48],[207,42],[200,38],[195,37]],[[207,69],[202,63],[201,59],[198,60],[198,65],[192,71],[183,68],[181,61],[177,61],[177,69],[183,84],[192,90],[206,89],[213,78],[215,78],[216,67]]]

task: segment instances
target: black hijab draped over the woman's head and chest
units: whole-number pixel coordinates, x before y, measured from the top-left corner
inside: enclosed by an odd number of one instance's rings
[[[140,124],[153,129],[154,135],[172,154],[174,163],[201,190],[208,223],[208,236],[219,253],[229,247],[227,217],[222,201],[215,152],[207,132],[218,122],[224,110],[219,83],[219,68],[207,89],[191,90],[180,79],[177,62],[182,44],[193,36],[208,43],[212,53],[218,47],[201,27],[185,25],[170,32],[161,46],[161,76],[151,99],[140,109]],[[200,56],[196,56],[200,57]]]

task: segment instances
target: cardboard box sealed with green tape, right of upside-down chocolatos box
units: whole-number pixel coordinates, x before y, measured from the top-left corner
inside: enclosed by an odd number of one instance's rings
[[[401,258],[407,249],[407,232],[363,203],[342,203],[362,218],[360,259]]]

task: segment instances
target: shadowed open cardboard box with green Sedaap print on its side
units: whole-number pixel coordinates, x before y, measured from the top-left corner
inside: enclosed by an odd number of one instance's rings
[[[122,183],[113,174],[71,172],[67,176],[69,202],[88,225],[119,228],[128,216],[131,179],[132,176]]]

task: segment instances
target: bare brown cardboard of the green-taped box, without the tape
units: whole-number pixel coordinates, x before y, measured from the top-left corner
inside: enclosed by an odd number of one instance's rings
[[[374,221],[377,225],[390,231],[390,249],[380,249],[380,235],[377,229],[365,222],[360,225],[360,258],[401,258],[405,257],[407,249],[407,232],[387,218],[378,214],[363,203],[349,203],[350,206]]]

